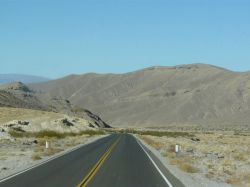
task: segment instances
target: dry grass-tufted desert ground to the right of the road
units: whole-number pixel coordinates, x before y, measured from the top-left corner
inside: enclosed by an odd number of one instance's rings
[[[250,133],[161,132],[137,136],[194,182],[203,179],[201,186],[215,186],[212,181],[218,186],[250,186]],[[175,145],[181,146],[179,153],[175,153]]]

